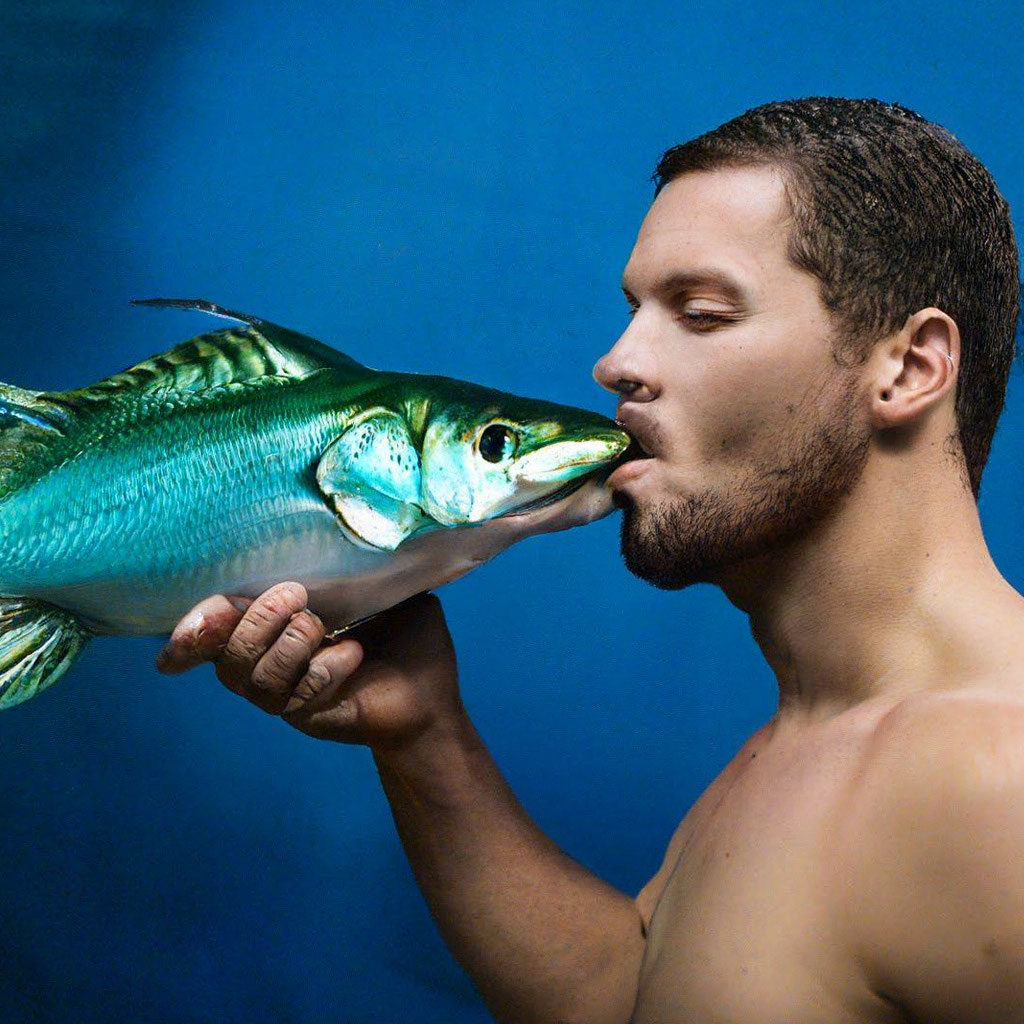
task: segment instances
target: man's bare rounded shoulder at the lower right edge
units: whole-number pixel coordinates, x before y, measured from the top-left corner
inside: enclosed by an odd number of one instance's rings
[[[892,708],[847,808],[858,952],[916,1018],[1024,1021],[1024,671],[1014,673]]]

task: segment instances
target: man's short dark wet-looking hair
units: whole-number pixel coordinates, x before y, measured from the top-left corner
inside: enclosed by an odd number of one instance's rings
[[[950,132],[896,103],[815,96],[766,103],[673,146],[656,191],[689,171],[777,166],[793,262],[821,283],[856,364],[927,306],[963,339],[955,412],[975,498],[1014,358],[1020,279],[1010,207]]]

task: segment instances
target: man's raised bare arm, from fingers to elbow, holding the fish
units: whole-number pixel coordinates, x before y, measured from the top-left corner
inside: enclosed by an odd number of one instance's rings
[[[305,600],[286,584],[244,612],[203,602],[161,668],[213,660],[229,689],[296,728],[371,746],[434,920],[499,1020],[628,1021],[644,948],[636,905],[519,805],[463,709],[437,599],[323,648]]]

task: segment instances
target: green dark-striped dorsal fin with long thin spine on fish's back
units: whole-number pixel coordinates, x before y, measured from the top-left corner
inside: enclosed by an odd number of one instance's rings
[[[304,377],[325,368],[367,372],[366,367],[315,338],[247,313],[222,309],[205,299],[140,299],[135,302],[198,309],[242,321],[247,326],[200,335],[96,384],[44,397],[75,404],[123,391],[164,388],[197,391],[261,377]]]

